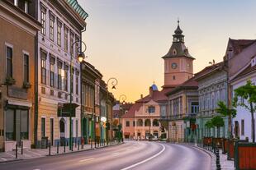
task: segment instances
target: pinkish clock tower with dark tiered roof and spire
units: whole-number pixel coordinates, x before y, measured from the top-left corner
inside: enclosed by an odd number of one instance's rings
[[[193,60],[184,44],[183,30],[178,27],[173,34],[173,44],[164,59],[164,88],[183,84],[193,76]]]

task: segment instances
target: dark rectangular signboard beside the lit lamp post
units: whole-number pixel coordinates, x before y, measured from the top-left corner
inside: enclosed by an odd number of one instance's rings
[[[76,103],[58,103],[58,117],[75,117],[75,109],[78,107]]]

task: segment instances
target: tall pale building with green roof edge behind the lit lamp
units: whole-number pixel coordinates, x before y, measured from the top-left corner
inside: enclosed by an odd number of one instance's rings
[[[58,104],[69,103],[70,97],[72,103],[78,105],[72,117],[73,141],[81,137],[81,73],[76,57],[88,14],[77,1],[39,0],[37,5],[38,21],[42,24],[42,29],[38,32],[37,47],[36,140],[39,146],[44,137],[48,137],[51,145],[57,145],[59,141],[60,145],[64,145],[64,141],[69,142],[69,115],[58,113]]]

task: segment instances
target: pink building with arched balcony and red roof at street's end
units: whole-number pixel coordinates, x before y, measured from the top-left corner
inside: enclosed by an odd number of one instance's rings
[[[149,95],[137,100],[128,113],[122,116],[123,137],[146,140],[151,134],[153,139],[158,139],[162,135],[160,112],[166,110],[167,99],[164,90],[159,91],[156,85],[150,86]]]

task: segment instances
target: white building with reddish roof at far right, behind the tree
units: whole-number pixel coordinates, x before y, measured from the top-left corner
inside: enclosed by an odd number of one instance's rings
[[[234,90],[242,85],[246,85],[247,80],[252,80],[256,85],[256,56],[243,67],[235,76],[230,77],[230,84],[235,95]],[[251,113],[245,108],[238,107],[237,115],[232,121],[233,136],[238,137],[240,140],[245,140],[246,137],[252,141],[251,133]]]

